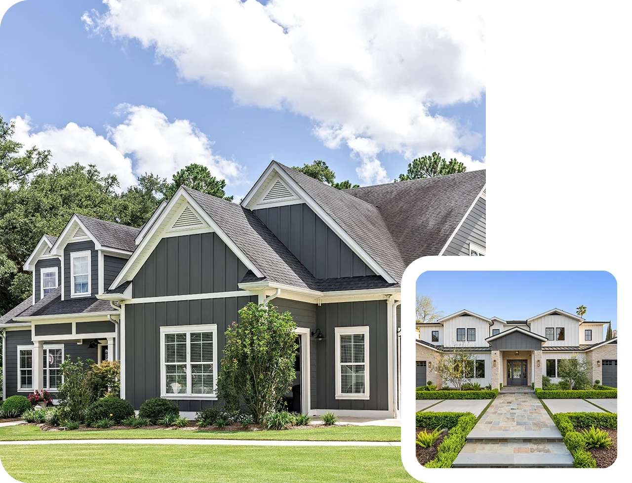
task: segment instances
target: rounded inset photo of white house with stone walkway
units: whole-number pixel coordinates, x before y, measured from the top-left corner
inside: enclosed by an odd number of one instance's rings
[[[423,272],[415,338],[421,465],[605,468],[616,460],[609,272]]]

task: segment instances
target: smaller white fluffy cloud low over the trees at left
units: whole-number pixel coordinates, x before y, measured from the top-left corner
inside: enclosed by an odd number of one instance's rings
[[[50,149],[52,164],[60,167],[77,161],[95,164],[101,173],[116,174],[121,189],[134,185],[136,176],[145,173],[171,180],[173,173],[192,162],[207,166],[214,176],[228,183],[243,181],[245,169],[214,154],[213,142],[191,121],[169,122],[153,107],[130,104],[118,106],[116,114],[125,117],[121,124],[107,126],[107,138],[75,123],[61,129],[44,126],[35,131],[28,116],[17,116],[11,121],[15,123],[15,140],[25,148],[37,145]]]

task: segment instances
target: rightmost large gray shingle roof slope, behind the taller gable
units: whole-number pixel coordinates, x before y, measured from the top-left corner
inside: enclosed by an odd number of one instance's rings
[[[482,169],[344,193],[377,207],[406,267],[419,257],[439,255],[485,185],[485,174]]]

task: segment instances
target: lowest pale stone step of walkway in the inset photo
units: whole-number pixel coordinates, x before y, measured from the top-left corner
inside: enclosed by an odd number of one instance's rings
[[[569,453],[459,453],[453,468],[573,468]]]

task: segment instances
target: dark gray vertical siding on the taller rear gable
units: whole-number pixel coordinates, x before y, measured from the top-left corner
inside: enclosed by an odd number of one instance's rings
[[[253,212],[316,278],[374,275],[307,204]]]

